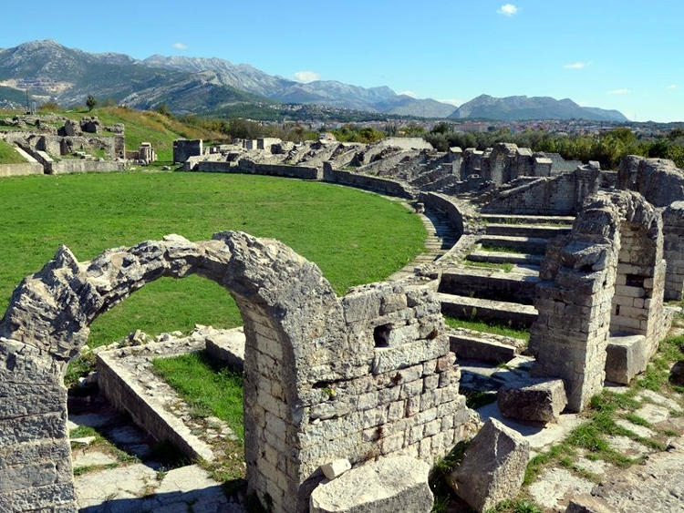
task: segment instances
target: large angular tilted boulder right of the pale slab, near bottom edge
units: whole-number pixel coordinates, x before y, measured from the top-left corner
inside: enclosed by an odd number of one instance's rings
[[[448,480],[471,508],[484,511],[517,495],[529,455],[530,445],[523,436],[490,418]]]

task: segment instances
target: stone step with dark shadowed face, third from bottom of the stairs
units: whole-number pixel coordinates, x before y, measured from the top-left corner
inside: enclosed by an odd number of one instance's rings
[[[539,277],[534,274],[488,269],[447,269],[441,273],[438,292],[498,302],[534,303]]]

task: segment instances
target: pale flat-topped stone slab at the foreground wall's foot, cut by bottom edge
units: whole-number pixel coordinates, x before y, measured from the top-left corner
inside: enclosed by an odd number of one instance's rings
[[[321,483],[311,494],[310,513],[428,512],[433,497],[430,466],[406,456],[382,457]]]

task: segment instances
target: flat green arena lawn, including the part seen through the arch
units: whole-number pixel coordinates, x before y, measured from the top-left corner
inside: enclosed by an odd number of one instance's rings
[[[66,244],[81,261],[110,247],[223,230],[284,241],[316,262],[338,294],[387,277],[421,251],[420,220],[377,195],[300,180],[202,173],[16,177],[0,187],[0,312],[14,287]],[[150,283],[92,326],[90,345],[137,328],[241,323],[231,296],[191,276]]]

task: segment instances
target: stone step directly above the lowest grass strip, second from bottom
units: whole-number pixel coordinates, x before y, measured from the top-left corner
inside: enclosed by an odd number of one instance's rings
[[[529,304],[493,301],[455,294],[438,294],[441,313],[461,319],[503,323],[513,327],[529,328],[537,318],[537,311]]]

